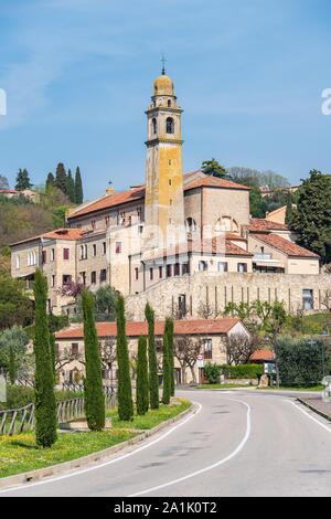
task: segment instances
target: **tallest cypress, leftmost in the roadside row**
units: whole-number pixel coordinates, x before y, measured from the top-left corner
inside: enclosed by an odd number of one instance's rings
[[[50,354],[50,331],[46,314],[47,282],[41,271],[34,277],[35,300],[35,439],[42,447],[56,442],[56,401]]]

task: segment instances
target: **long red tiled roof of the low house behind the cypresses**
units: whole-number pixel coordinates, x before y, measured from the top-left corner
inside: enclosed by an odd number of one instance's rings
[[[241,322],[239,319],[197,319],[197,320],[177,320],[174,321],[175,335],[210,335],[210,333],[227,333],[232,328]],[[116,337],[116,322],[96,322],[98,337]],[[147,321],[127,322],[127,336],[139,337],[147,336]],[[164,331],[164,322],[156,321],[156,336],[162,336]],[[67,328],[55,333],[57,340],[83,339],[83,326]]]

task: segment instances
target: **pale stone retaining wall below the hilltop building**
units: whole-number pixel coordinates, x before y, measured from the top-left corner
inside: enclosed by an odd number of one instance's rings
[[[163,279],[139,295],[126,298],[130,318],[143,320],[145,305],[149,301],[158,319],[177,311],[179,298],[185,296],[188,318],[199,318],[201,310],[209,307],[213,315],[220,315],[231,303],[255,300],[284,301],[290,313],[302,310],[302,290],[313,290],[314,311],[324,310],[325,292],[331,290],[331,276],[320,274],[205,274]]]

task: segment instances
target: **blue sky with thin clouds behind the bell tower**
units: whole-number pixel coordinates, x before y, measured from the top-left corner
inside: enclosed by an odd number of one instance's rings
[[[162,53],[185,171],[330,172],[330,0],[1,0],[0,174],[79,165],[86,199],[142,182]]]

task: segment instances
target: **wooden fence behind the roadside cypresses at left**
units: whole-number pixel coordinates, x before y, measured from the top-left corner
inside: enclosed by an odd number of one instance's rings
[[[105,405],[109,410],[117,405],[115,391],[105,393]],[[57,403],[57,423],[68,423],[85,417],[85,399],[64,400]],[[0,411],[0,436],[12,436],[34,428],[34,404]]]

